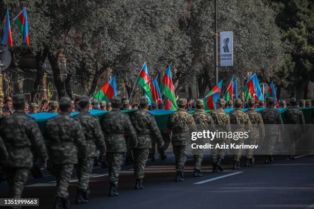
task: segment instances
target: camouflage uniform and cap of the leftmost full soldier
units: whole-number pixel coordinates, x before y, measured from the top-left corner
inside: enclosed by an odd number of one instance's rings
[[[13,105],[24,105],[24,103],[24,95],[13,96]],[[9,184],[9,198],[21,198],[29,169],[33,165],[31,147],[42,162],[47,160],[44,139],[37,122],[25,114],[24,108],[23,110],[15,110],[12,115],[2,119],[0,135],[8,154],[7,160],[3,161],[2,164],[5,167]]]

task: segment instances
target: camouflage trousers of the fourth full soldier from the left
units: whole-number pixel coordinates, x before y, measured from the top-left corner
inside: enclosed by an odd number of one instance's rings
[[[107,153],[109,182],[117,184],[123,161],[123,153]]]

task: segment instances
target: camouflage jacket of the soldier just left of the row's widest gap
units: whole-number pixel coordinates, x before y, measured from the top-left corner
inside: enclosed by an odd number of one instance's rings
[[[151,137],[153,137],[159,145],[164,142],[155,118],[148,113],[146,109],[133,112],[130,119],[136,131],[136,135],[138,136],[138,145],[136,148],[151,148]]]

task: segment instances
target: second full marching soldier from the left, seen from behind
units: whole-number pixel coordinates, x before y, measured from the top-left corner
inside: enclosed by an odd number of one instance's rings
[[[80,121],[71,117],[71,99],[63,97],[60,100],[61,113],[47,121],[46,139],[49,147],[49,157],[52,173],[57,181],[57,197],[55,209],[69,208],[68,186],[77,164],[77,155],[86,161],[86,140]]]

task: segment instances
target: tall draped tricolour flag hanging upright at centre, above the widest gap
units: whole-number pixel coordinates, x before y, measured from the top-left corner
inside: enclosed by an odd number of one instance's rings
[[[165,110],[178,110],[175,100],[170,66],[168,66],[163,80],[160,83],[160,90],[161,93],[167,98],[165,103]]]

